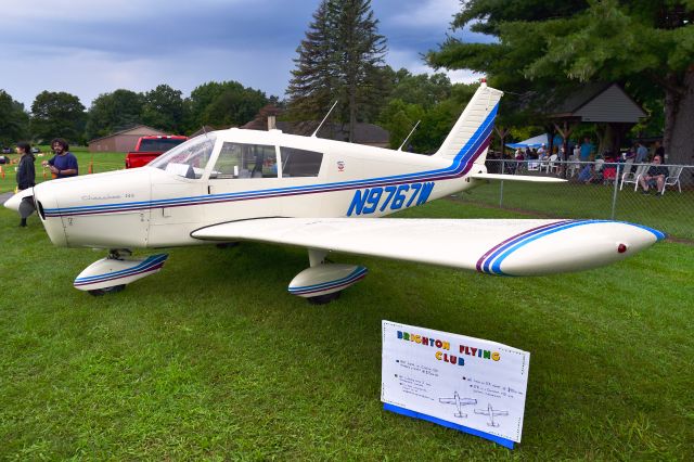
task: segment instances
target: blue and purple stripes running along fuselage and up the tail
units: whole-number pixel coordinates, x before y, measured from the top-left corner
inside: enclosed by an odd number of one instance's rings
[[[189,205],[215,204],[220,202],[250,201],[256,198],[280,197],[288,195],[317,194],[333,191],[355,190],[360,188],[384,187],[412,182],[448,180],[460,178],[467,174],[477,157],[489,146],[491,130],[499,105],[489,113],[485,121],[460,150],[447,168],[421,171],[391,177],[372,178],[369,180],[344,181],[336,183],[279,188],[260,191],[245,191],[239,193],[214,194],[195,197],[177,197],[159,201],[130,202],[125,204],[90,205],[80,207],[47,208],[47,217],[66,217],[76,215],[111,214],[119,211],[146,210],[158,207],[184,207]]]

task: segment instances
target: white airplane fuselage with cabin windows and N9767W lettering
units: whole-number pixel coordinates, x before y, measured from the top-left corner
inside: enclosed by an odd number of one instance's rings
[[[486,147],[487,137],[479,138]],[[279,130],[230,129],[195,140],[209,152],[194,157],[193,149],[180,162],[37,185],[52,242],[167,247],[201,244],[191,232],[224,221],[375,218],[471,188],[475,180],[465,175],[486,171],[472,155],[451,161]]]

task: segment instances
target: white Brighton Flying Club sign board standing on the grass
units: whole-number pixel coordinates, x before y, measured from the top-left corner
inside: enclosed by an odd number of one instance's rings
[[[520,441],[530,354],[383,321],[384,408],[491,439]]]

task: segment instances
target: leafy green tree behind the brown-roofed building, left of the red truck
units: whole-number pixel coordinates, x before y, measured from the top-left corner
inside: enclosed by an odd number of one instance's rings
[[[87,121],[87,138],[105,137],[142,124],[144,97],[130,90],[102,93],[91,103]]]

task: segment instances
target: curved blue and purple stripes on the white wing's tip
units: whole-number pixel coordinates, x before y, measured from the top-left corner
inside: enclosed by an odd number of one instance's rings
[[[509,257],[511,254],[513,254],[515,251],[523,247],[524,245],[532,241],[536,241],[540,238],[543,238],[545,235],[553,234],[555,232],[560,232],[569,228],[575,228],[575,227],[580,227],[586,224],[594,224],[594,223],[615,223],[615,222],[620,222],[620,221],[562,220],[562,221],[556,221],[554,223],[549,223],[549,224],[526,230],[522,233],[512,235],[511,238],[500,242],[499,244],[494,245],[489,251],[487,251],[477,260],[476,269],[477,271],[487,273],[487,274],[509,275],[501,270],[501,264],[506,257]],[[652,228],[644,227],[641,224],[627,223],[627,222],[622,222],[622,223],[650,231],[656,236],[656,240],[658,241],[661,241],[665,239],[665,234],[658,230],[654,230]]]

